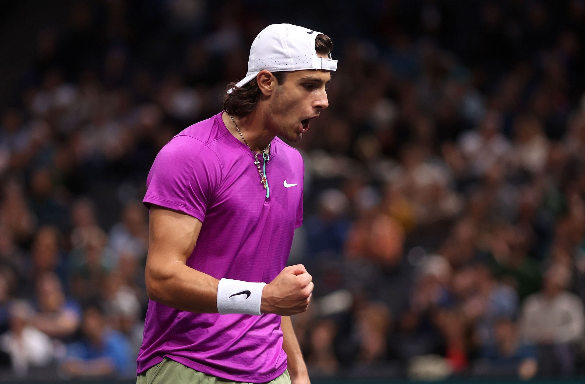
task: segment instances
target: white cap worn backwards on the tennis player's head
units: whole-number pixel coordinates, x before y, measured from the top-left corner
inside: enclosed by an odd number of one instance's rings
[[[324,59],[315,52],[316,30],[292,24],[271,24],[256,36],[248,59],[248,73],[236,84],[242,87],[263,70],[271,72],[304,69],[337,70],[337,60]],[[228,90],[232,93],[233,88]]]

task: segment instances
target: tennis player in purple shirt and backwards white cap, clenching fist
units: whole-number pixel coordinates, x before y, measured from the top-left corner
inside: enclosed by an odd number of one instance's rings
[[[304,164],[277,135],[300,139],[328,107],[331,49],[321,32],[268,26],[225,110],[154,160],[137,383],[309,383],[289,316],[307,309],[313,283],[304,266],[285,268]]]

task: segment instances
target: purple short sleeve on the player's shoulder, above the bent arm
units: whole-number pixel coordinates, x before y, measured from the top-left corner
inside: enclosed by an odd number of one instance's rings
[[[204,221],[221,166],[201,140],[176,136],[160,150],[146,180],[143,204],[161,205]]]

